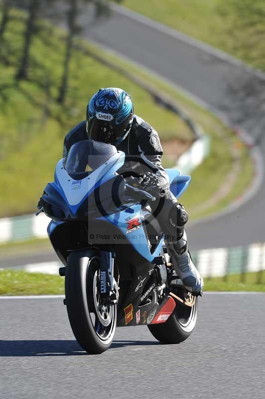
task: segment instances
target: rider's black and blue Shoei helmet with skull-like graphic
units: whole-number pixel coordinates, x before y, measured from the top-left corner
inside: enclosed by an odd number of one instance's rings
[[[132,123],[132,99],[118,87],[100,89],[88,103],[86,126],[92,140],[118,145],[129,134]]]

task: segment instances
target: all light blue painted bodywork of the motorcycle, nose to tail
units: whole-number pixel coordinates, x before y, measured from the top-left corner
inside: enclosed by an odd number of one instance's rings
[[[84,200],[86,200],[96,188],[114,177],[115,173],[124,165],[124,161],[124,152],[118,151],[104,165],[92,172],[88,177],[74,180],[63,168],[63,160],[60,160],[55,170],[55,182],[51,183],[51,186],[64,199],[71,212],[75,214]],[[167,169],[166,172],[169,176],[171,192],[176,197],[179,197],[188,187],[190,177],[181,176],[179,175],[179,171],[173,169]],[[160,239],[157,239],[154,252],[151,253],[145,228],[143,228],[144,214],[141,211],[141,204],[138,202],[130,203],[126,208],[123,206],[120,212],[115,212],[107,216],[95,217],[95,220],[96,219],[105,220],[117,226],[124,239],[128,240],[133,248],[149,262],[152,262],[154,257],[160,254],[164,235],[159,237]],[[48,226],[48,234],[50,235],[54,229],[62,223],[67,222],[52,220]]]

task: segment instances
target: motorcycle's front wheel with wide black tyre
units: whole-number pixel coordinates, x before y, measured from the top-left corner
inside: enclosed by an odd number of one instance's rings
[[[117,305],[106,304],[100,293],[100,257],[96,249],[73,251],[67,259],[65,299],[69,321],[79,345],[100,354],[112,344]]]

